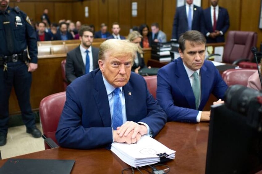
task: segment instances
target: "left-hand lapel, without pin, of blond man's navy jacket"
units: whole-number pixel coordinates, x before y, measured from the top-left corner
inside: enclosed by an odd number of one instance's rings
[[[98,70],[98,72],[95,75],[94,83],[94,98],[97,104],[97,108],[99,108],[101,120],[103,121],[104,127],[111,127],[111,115],[108,102],[108,95],[100,70]]]

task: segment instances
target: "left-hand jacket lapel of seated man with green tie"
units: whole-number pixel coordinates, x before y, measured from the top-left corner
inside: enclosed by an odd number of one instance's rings
[[[190,108],[196,108],[196,99],[181,58],[178,59],[176,66],[177,70],[175,71],[175,75],[178,79],[177,84],[182,94],[184,94]]]

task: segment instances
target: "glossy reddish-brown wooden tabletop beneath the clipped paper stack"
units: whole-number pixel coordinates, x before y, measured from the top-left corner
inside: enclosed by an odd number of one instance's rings
[[[176,151],[175,159],[163,163],[170,167],[169,173],[205,173],[208,130],[209,123],[168,122],[164,126],[155,139]],[[71,174],[115,174],[129,167],[115,154],[104,148],[76,150],[58,147],[14,158],[74,159],[75,164]],[[6,160],[0,160],[0,167]],[[139,172],[135,169],[135,173]]]

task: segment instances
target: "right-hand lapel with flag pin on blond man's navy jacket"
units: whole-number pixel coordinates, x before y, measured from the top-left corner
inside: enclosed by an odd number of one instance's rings
[[[134,99],[133,95],[134,92],[133,88],[131,87],[130,83],[127,83],[125,86],[123,86],[124,94],[125,94],[125,112],[126,112],[126,119],[127,121],[131,121],[131,115],[132,112],[134,112],[135,106],[134,106]]]

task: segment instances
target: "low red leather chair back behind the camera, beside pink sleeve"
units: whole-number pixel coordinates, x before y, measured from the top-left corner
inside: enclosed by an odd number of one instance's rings
[[[255,72],[257,72],[256,69],[228,69],[223,72],[222,78],[228,86],[247,86],[248,78]]]

